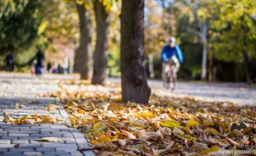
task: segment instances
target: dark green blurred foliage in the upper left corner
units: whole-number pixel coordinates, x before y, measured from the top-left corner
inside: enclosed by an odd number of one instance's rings
[[[41,1],[0,1],[0,55],[12,50],[15,56],[21,56],[40,43],[38,27],[43,18],[41,9]],[[14,61],[16,65],[21,65],[33,56],[18,57]]]

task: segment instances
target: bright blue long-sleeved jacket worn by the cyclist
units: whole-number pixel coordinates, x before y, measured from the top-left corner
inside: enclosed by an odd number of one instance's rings
[[[168,62],[168,59],[171,58],[173,55],[177,56],[180,63],[183,62],[182,51],[181,48],[178,47],[178,45],[175,45],[174,48],[171,48],[169,45],[165,45],[161,53],[161,60],[163,62]]]

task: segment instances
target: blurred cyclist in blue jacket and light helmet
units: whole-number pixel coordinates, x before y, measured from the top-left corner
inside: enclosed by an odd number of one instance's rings
[[[176,72],[178,72],[180,63],[183,62],[183,55],[182,55],[181,48],[179,48],[179,46],[176,45],[176,39],[174,37],[169,38],[168,43],[164,46],[161,52],[161,60],[165,64],[164,65],[165,79],[167,79],[167,76],[170,70],[170,64],[174,65],[175,67],[174,79],[176,79]]]

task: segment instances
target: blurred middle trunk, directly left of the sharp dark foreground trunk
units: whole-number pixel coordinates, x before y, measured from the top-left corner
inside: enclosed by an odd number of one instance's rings
[[[93,1],[96,17],[97,40],[95,48],[95,59],[93,65],[92,84],[105,84],[107,77],[107,48],[109,40],[109,13],[105,11],[105,6],[99,0]]]

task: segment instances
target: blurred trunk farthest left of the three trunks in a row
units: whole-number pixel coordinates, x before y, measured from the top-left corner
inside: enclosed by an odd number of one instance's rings
[[[80,21],[80,45],[75,51],[75,72],[81,79],[92,78],[92,21],[84,5],[76,4]]]

